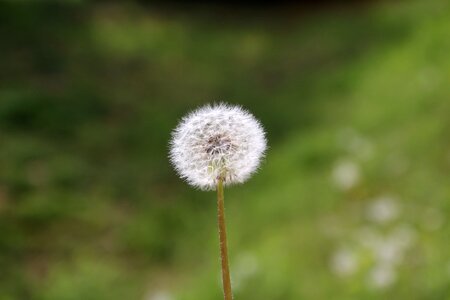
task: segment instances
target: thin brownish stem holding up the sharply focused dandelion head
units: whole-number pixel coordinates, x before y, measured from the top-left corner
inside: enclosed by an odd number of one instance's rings
[[[223,197],[223,179],[217,181],[217,220],[219,224],[220,261],[222,264],[222,284],[225,300],[232,300],[230,267],[228,265],[227,230],[225,226],[225,208]]]

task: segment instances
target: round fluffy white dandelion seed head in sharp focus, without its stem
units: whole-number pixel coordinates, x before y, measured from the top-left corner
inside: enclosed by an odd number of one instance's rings
[[[186,117],[172,133],[170,160],[189,184],[214,190],[243,183],[258,168],[266,150],[264,130],[239,106],[207,105]]]

